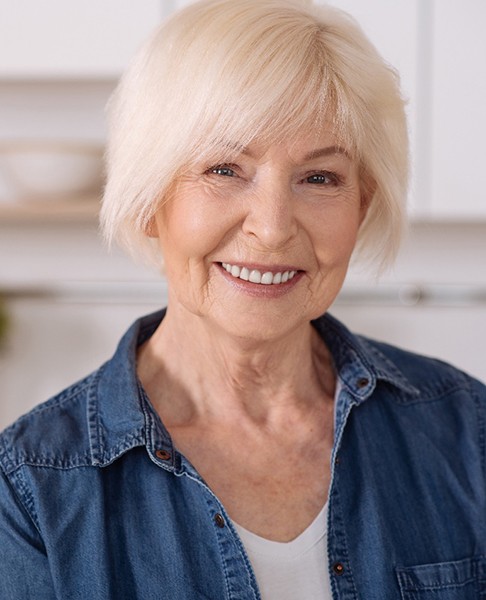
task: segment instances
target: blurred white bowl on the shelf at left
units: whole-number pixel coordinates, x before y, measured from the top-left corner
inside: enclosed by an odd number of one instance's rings
[[[103,148],[70,142],[2,144],[0,165],[16,199],[69,200],[99,192]]]

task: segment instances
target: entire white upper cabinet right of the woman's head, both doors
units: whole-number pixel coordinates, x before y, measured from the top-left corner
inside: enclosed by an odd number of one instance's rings
[[[410,99],[411,216],[486,219],[484,0],[334,0],[398,68]]]

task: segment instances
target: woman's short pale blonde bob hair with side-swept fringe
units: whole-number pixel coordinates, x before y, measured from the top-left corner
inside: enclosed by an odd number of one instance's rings
[[[312,0],[196,2],[141,48],[108,110],[108,242],[155,258],[150,223],[184,169],[331,124],[371,198],[358,256],[379,267],[395,257],[408,183],[404,102],[397,74],[346,13]]]

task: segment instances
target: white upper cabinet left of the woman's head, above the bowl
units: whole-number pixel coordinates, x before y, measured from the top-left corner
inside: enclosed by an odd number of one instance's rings
[[[0,78],[115,78],[164,0],[0,0]]]

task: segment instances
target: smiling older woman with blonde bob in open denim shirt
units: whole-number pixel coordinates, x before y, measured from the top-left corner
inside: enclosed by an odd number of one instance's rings
[[[203,0],[110,105],[104,231],[168,306],[0,438],[0,596],[486,594],[486,389],[327,315],[396,251],[395,73],[348,16]]]

